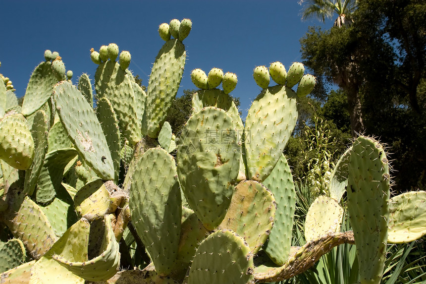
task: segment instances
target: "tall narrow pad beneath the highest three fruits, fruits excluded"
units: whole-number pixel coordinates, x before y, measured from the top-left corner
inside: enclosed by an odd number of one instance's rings
[[[142,131],[157,138],[167,111],[176,97],[185,66],[186,52],[181,41],[169,40],[156,57],[148,84],[146,119]]]

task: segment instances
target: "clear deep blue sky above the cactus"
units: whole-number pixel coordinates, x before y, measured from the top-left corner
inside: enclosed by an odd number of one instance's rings
[[[261,91],[253,79],[257,65],[281,61],[288,69],[300,61],[299,39],[318,21],[302,21],[298,0],[192,0],[192,1],[44,1],[2,2],[0,10],[0,73],[9,77],[21,97],[32,70],[44,60],[46,49],[57,51],[73,82],[82,73],[93,79],[97,65],[91,48],[116,43],[132,55],[129,69],[148,84],[151,66],[164,41],[158,26],[171,19],[189,18],[192,30],[183,43],[187,61],[181,88],[195,89],[190,73],[212,67],[234,72],[243,119]]]

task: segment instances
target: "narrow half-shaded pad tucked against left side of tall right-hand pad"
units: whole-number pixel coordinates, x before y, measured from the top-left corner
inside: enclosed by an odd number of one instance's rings
[[[348,185],[348,164],[352,147],[348,148],[337,161],[330,176],[330,185],[328,186],[328,195],[330,198],[340,202]]]

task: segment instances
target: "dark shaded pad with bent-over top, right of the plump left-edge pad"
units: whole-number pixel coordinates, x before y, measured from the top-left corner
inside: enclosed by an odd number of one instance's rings
[[[49,152],[45,156],[43,168],[37,181],[37,189],[33,198],[40,203],[53,200],[56,192],[61,188],[65,167],[75,159],[77,151],[73,148],[64,148]]]

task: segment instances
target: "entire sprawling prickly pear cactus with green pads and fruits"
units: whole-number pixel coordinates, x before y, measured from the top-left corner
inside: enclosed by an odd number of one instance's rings
[[[426,192],[389,199],[385,149],[360,136],[309,209],[306,245],[292,247],[295,186],[282,152],[315,78],[301,63],[256,67],[262,91],[243,123],[229,95],[237,76],[195,69],[177,140],[165,118],[191,26],[160,25],[146,92],[115,44],[91,50],[95,97],[88,75],[73,85],[50,51],[22,108],[0,82],[1,283],[280,281],[342,243],[356,244],[360,283],[380,283],[386,243],[426,233]],[[345,192],[353,232],[340,232]]]

